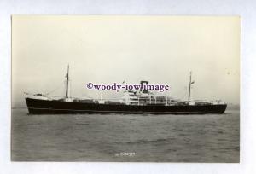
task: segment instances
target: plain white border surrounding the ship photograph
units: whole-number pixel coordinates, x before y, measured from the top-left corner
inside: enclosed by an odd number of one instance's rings
[[[245,0],[1,0],[0,171],[3,173],[256,173],[256,1]],[[147,14],[241,16],[241,163],[10,162],[11,14]]]

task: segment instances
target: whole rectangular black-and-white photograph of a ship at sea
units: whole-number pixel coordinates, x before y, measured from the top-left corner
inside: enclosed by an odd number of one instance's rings
[[[240,162],[239,16],[12,15],[11,160]]]

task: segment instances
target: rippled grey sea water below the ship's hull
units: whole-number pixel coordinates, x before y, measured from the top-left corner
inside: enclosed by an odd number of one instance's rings
[[[14,161],[239,162],[240,114],[30,115],[12,110]]]

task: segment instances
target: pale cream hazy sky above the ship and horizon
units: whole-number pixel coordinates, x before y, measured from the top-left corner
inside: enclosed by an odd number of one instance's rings
[[[168,84],[164,94],[238,104],[240,18],[234,16],[12,16],[12,105],[24,92],[99,98],[86,84]],[[57,89],[57,90],[55,90]],[[103,98],[122,93],[103,91]]]

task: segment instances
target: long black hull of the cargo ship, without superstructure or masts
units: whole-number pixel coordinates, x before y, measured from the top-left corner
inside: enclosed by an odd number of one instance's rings
[[[73,114],[73,113],[151,113],[151,114],[206,114],[224,113],[227,105],[114,105],[84,102],[63,102],[57,100],[41,100],[26,98],[30,114]]]

